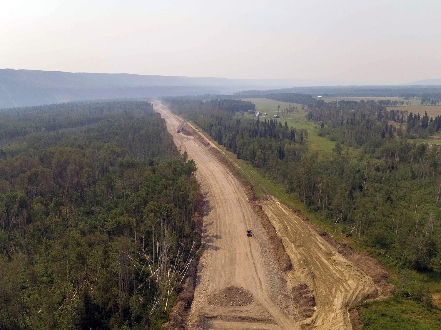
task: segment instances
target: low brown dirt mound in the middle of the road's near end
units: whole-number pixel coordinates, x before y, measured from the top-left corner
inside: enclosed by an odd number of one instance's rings
[[[208,304],[221,307],[246,306],[253,302],[253,294],[237,286],[227,286],[208,298]]]

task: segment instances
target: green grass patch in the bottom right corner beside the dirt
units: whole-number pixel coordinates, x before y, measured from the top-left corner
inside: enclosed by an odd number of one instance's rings
[[[441,329],[441,312],[413,300],[398,298],[376,300],[358,308],[363,330]]]

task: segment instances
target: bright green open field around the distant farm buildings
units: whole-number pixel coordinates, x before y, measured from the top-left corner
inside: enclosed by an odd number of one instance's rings
[[[244,101],[251,101],[254,104],[256,104],[256,110],[261,111],[262,113],[268,113],[266,118],[269,120],[270,117],[273,115],[277,115],[277,106],[280,105],[280,120],[282,121],[282,124],[286,121],[288,123],[288,126],[295,127],[297,129],[303,129],[308,130],[308,138],[306,140],[307,145],[309,147],[309,150],[311,152],[325,152],[330,153],[332,149],[335,146],[335,142],[330,141],[326,137],[320,137],[317,135],[317,131],[320,128],[319,125],[316,122],[307,121],[305,118],[305,111],[302,111],[302,104],[296,104],[296,103],[288,103],[288,102],[282,102],[282,101],[276,101],[276,100],[269,100],[269,99],[243,99]],[[299,113],[296,111],[293,111],[290,114],[283,115],[283,109],[288,107],[289,105],[295,106],[299,109]],[[252,115],[244,115],[244,118],[253,118]],[[300,137],[295,137],[296,141]]]

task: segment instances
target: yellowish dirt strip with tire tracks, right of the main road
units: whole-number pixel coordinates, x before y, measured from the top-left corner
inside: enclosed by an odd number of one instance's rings
[[[317,311],[302,324],[317,329],[351,329],[348,308],[377,292],[372,278],[275,198],[259,204],[291,258],[291,282],[306,284],[315,297]]]

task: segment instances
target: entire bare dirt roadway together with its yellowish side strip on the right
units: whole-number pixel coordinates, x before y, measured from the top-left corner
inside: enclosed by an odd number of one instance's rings
[[[261,202],[262,210],[293,264],[292,271],[280,271],[239,182],[198,136],[176,132],[182,119],[160,102],[153,106],[176,145],[197,163],[198,182],[209,200],[202,230],[206,250],[198,265],[188,327],[351,329],[347,308],[375,289],[372,280],[270,198]],[[247,229],[255,237],[247,237]]]

